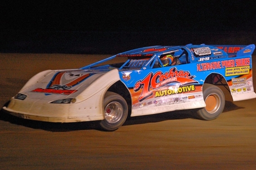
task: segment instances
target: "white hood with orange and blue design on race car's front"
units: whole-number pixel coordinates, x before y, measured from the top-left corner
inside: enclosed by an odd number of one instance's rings
[[[44,71],[32,77],[19,93],[33,99],[55,101],[75,98],[110,70],[67,69]]]

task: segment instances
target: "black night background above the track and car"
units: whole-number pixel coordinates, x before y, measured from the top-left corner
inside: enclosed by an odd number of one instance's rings
[[[0,52],[115,54],[256,42],[253,1],[2,1]]]

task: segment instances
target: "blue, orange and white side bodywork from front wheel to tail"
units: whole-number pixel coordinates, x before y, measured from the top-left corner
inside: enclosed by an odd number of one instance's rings
[[[131,116],[205,107],[203,84],[212,74],[224,77],[234,101],[256,97],[252,81],[252,56],[247,55],[249,50],[244,50],[239,57],[229,57],[213,46],[185,49],[189,63],[120,71],[120,79],[132,96]]]

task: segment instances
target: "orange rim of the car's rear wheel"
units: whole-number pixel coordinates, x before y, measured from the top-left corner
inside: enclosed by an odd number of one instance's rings
[[[210,94],[206,97],[205,104],[205,109],[208,113],[215,113],[216,111],[218,111],[218,108],[220,106],[219,96],[217,96],[216,94]]]

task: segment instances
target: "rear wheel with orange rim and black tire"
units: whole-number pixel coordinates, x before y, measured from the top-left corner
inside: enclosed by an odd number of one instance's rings
[[[197,111],[200,119],[210,121],[219,116],[225,107],[225,96],[223,91],[213,84],[205,83],[203,86],[203,96],[206,107]]]

